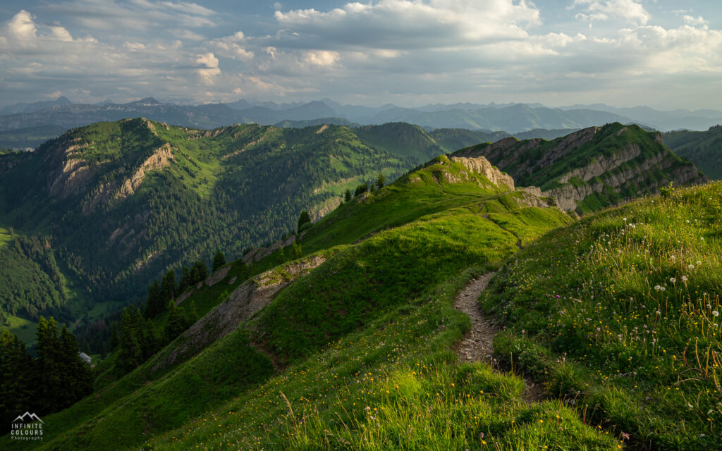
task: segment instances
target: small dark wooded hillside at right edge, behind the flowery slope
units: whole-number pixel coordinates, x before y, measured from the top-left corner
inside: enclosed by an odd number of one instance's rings
[[[722,126],[708,131],[670,131],[663,136],[674,153],[695,163],[713,180],[722,179]]]

